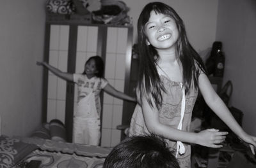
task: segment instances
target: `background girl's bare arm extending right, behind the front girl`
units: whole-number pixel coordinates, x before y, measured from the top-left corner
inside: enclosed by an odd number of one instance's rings
[[[123,92],[120,92],[120,91],[116,90],[109,83],[108,83],[108,85],[106,85],[106,87],[103,88],[103,90],[105,92],[107,92],[108,94],[113,95],[113,96],[115,96],[119,99],[124,99],[124,100],[127,100],[127,101],[137,102],[135,97],[131,97],[129,95],[124,94]]]

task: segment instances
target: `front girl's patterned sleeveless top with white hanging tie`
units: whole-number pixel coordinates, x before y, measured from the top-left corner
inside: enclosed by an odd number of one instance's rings
[[[159,110],[159,120],[161,123],[170,125],[171,127],[177,129],[180,122],[180,111],[182,102],[182,87],[180,83],[176,81],[171,81],[167,77],[160,75],[161,81],[163,82],[166,92],[162,91],[163,105]],[[196,97],[198,95],[198,90],[195,87],[191,87],[186,94],[186,105],[185,113],[182,121],[182,130],[189,132],[191,124],[191,116],[193,107],[195,105]],[[129,128],[129,136],[150,134],[145,125],[143,113],[141,106],[137,104],[132,115],[131,124]],[[168,147],[172,151],[177,151],[177,141],[172,141],[171,139],[166,139]],[[191,148],[189,144],[183,143],[185,147],[185,153],[177,155],[180,167],[191,167],[190,156]]]

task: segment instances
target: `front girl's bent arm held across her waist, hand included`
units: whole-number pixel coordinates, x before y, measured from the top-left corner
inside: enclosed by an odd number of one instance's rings
[[[167,139],[200,144],[211,148],[221,148],[222,145],[220,143],[225,140],[225,136],[228,134],[228,132],[220,132],[216,129],[207,129],[199,133],[178,130],[170,125],[161,123],[159,121],[159,111],[149,106],[147,100],[144,98],[142,99],[141,107],[148,131]]]

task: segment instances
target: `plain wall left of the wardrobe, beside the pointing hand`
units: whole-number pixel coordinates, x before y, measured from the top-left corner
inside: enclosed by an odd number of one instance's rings
[[[45,0],[2,0],[0,115],[2,133],[26,136],[41,123]]]

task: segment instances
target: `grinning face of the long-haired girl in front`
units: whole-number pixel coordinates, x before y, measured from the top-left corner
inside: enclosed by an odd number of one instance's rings
[[[172,17],[151,11],[150,18],[145,24],[145,34],[152,46],[157,49],[175,48],[179,31]]]

